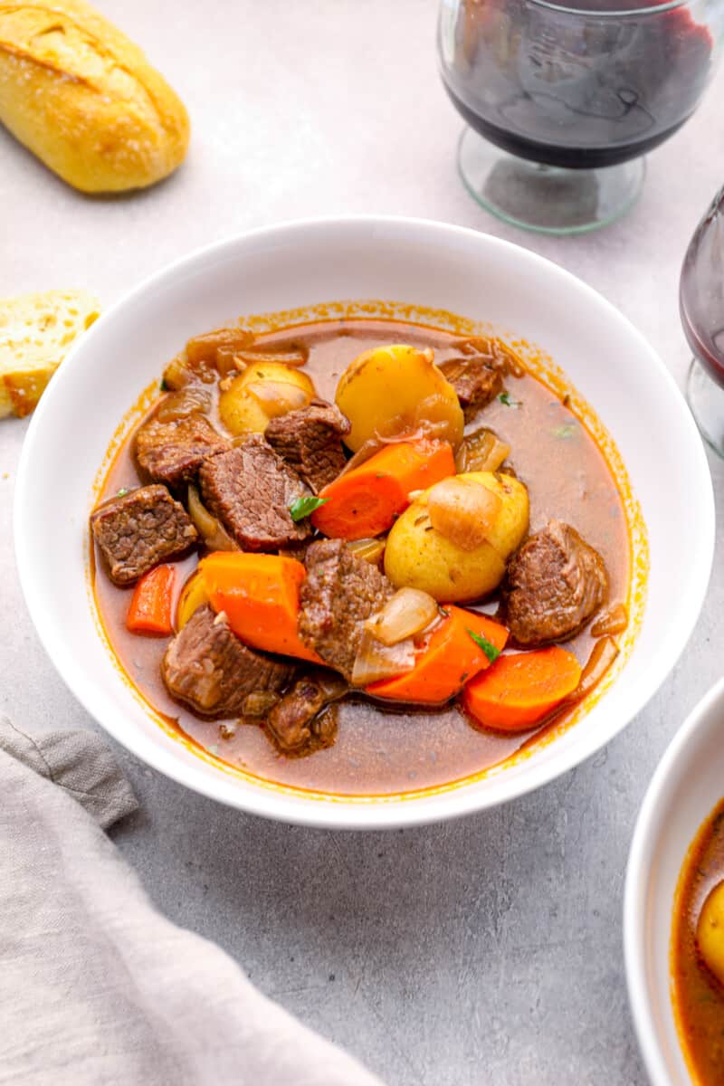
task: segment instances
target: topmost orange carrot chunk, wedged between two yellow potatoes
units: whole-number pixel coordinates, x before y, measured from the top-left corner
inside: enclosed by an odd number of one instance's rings
[[[312,523],[332,539],[379,535],[407,508],[410,492],[452,475],[455,458],[446,441],[394,442],[325,487],[319,492],[325,504]]]

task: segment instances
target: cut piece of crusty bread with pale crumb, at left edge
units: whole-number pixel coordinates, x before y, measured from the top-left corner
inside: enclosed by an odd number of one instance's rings
[[[0,301],[0,418],[28,415],[100,306],[85,290],[47,290]]]

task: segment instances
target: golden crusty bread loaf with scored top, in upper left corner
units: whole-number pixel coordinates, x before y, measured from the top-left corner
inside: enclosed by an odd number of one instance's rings
[[[183,104],[85,0],[0,0],[0,122],[84,192],[153,185],[189,142]]]

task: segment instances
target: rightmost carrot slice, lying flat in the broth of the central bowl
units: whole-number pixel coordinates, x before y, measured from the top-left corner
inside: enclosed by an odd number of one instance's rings
[[[494,668],[468,683],[462,707],[483,728],[526,731],[552,712],[580,680],[581,665],[558,645],[501,656]]]

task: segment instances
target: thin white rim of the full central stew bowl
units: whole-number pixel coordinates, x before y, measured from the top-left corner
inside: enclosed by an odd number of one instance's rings
[[[266,793],[262,788],[242,788],[238,786],[238,782],[230,782],[221,773],[212,775],[202,772],[201,762],[199,762],[199,767],[191,767],[175,755],[166,757],[167,752],[148,743],[147,737],[142,734],[129,733],[127,730],[124,731],[120,728],[113,727],[110,722],[103,720],[103,712],[97,706],[96,697],[91,695],[86,685],[82,669],[79,667],[77,659],[66,648],[62,632],[50,629],[43,620],[42,598],[35,591],[33,570],[26,557],[26,548],[23,546],[24,536],[27,534],[25,529],[26,508],[33,493],[29,480],[31,478],[31,462],[37,435],[41,432],[46,424],[46,417],[52,416],[54,400],[59,390],[69,379],[75,358],[80,351],[86,352],[88,345],[92,345],[93,338],[98,337],[104,330],[105,326],[115,318],[117,313],[132,307],[137,300],[142,298],[147,291],[163,283],[164,280],[174,279],[185,270],[193,269],[194,272],[203,272],[203,267],[207,262],[216,263],[224,257],[225,253],[232,254],[239,245],[254,241],[274,240],[279,236],[284,237],[284,240],[289,241],[290,235],[297,233],[304,236],[309,230],[333,232],[364,227],[386,227],[393,230],[410,231],[411,235],[418,238],[427,233],[432,244],[439,238],[447,239],[448,242],[450,240],[458,240],[468,244],[472,242],[475,245],[482,243],[488,247],[493,253],[497,251],[506,253],[509,256],[515,256],[517,261],[525,262],[537,272],[543,272],[548,276],[552,275],[562,285],[568,283],[575,292],[586,295],[592,304],[607,312],[613,323],[619,326],[622,324],[625,326],[628,337],[631,337],[632,341],[636,342],[638,350],[648,356],[650,364],[658,370],[658,377],[668,388],[669,393],[673,393],[679,400],[683,416],[682,422],[685,427],[688,427],[691,437],[691,453],[698,459],[697,478],[700,482],[702,504],[699,529],[700,538],[703,536],[708,545],[702,553],[702,560],[696,566],[697,591],[690,592],[684,601],[685,610],[679,620],[679,630],[683,635],[676,641],[675,645],[672,644],[669,655],[659,664],[657,674],[652,681],[649,684],[639,683],[638,686],[631,691],[628,698],[630,708],[624,715],[607,721],[607,727],[601,727],[596,732],[588,733],[585,742],[572,743],[559,757],[539,761],[533,772],[508,776],[507,787],[505,774],[501,773],[491,781],[491,785],[493,786],[487,790],[477,788],[475,786],[467,788],[462,785],[452,792],[428,797],[423,796],[397,804],[384,800],[379,803],[371,800],[368,804],[355,804],[351,801],[347,804],[343,797],[340,799],[334,798],[333,800],[315,799],[314,801],[301,801],[303,799],[302,795],[290,796],[283,793]],[[669,677],[683,653],[706,598],[715,542],[713,485],[703,443],[699,437],[696,424],[686,407],[686,402],[678,390],[673,375],[669,371],[658,352],[655,351],[645,336],[627,317],[617,310],[602,294],[577,278],[577,276],[574,276],[554,261],[541,256],[515,242],[474,230],[470,227],[456,226],[434,219],[373,214],[329,215],[288,219],[253,230],[240,231],[231,237],[202,245],[172,261],[141,279],[136,287],[123,294],[101,314],[94,325],[73,346],[63,365],[50,381],[30,419],[17,468],[13,521],[15,560],[21,586],[40,642],[61,679],[73,695],[116,742],[149,763],[153,769],[164,773],[177,783],[191,787],[193,791],[211,799],[249,813],[262,815],[266,818],[308,826],[364,830],[398,829],[406,825],[442,822],[450,818],[458,818],[463,815],[496,807],[499,804],[516,799],[549,784],[558,776],[561,776],[596,754],[596,752],[631,723]]]

